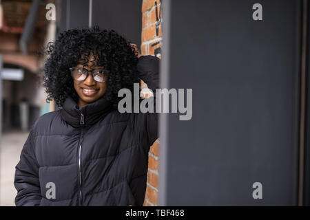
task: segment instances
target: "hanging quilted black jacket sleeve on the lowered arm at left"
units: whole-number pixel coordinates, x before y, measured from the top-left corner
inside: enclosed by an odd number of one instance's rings
[[[39,206],[41,190],[39,184],[39,165],[34,155],[32,130],[26,140],[21,157],[15,166],[14,186],[17,189],[16,206]]]

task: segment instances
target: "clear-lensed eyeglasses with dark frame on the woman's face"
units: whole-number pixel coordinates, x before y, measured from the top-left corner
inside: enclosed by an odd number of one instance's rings
[[[71,76],[76,81],[84,81],[88,74],[92,74],[92,78],[98,83],[104,83],[107,80],[108,71],[105,69],[87,70],[82,67],[70,67]]]

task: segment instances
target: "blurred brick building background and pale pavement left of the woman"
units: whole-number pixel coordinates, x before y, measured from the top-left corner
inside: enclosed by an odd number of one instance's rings
[[[12,206],[14,166],[28,131],[41,114],[54,109],[45,102],[41,84],[43,47],[54,39],[55,24],[45,19],[45,1],[1,0],[0,8],[0,205]]]

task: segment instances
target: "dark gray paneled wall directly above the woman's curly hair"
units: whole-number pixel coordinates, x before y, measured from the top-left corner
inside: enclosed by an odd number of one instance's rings
[[[92,26],[116,30],[128,41],[141,44],[142,0],[92,0],[91,6],[90,0],[59,0],[57,5],[58,33],[87,28],[91,19]]]

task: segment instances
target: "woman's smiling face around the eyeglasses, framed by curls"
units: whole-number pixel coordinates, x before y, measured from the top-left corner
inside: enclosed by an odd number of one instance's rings
[[[81,59],[76,67],[87,70],[103,69],[97,65],[97,57],[92,54],[85,59]],[[80,70],[81,71],[81,70]],[[89,72],[87,78],[83,81],[73,80],[74,89],[79,96],[79,107],[84,107],[86,104],[94,102],[101,98],[107,90],[107,78],[105,82],[99,83],[94,80],[92,74]]]

